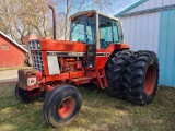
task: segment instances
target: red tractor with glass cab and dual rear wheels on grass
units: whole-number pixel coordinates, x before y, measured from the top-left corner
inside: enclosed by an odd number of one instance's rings
[[[31,103],[48,91],[43,111],[52,127],[74,119],[82,96],[75,86],[94,83],[112,96],[138,105],[151,103],[158,90],[159,63],[152,51],[129,50],[121,21],[94,10],[73,14],[70,39],[28,43],[33,68],[19,70],[16,97]],[[56,34],[55,34],[56,38]]]

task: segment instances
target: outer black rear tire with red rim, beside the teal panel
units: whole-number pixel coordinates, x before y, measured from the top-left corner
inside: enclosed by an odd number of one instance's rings
[[[124,93],[138,105],[151,103],[159,81],[159,62],[153,51],[138,51],[129,60],[124,75]]]

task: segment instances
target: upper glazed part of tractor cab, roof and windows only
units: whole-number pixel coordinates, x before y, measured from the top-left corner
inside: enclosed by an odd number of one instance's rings
[[[95,45],[96,49],[122,43],[121,22],[118,19],[92,10],[77,13],[70,20],[70,41]]]

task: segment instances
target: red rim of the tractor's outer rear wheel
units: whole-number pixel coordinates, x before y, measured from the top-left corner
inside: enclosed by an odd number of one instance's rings
[[[147,95],[152,94],[155,86],[155,81],[156,81],[156,69],[153,64],[151,64],[147,70],[144,80],[144,91]]]

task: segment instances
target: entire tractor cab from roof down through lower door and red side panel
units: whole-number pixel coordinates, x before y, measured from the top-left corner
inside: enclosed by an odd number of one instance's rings
[[[121,22],[95,10],[73,14],[70,21],[69,40],[86,45],[85,68],[104,68],[107,58],[117,48],[114,45],[124,41]]]

